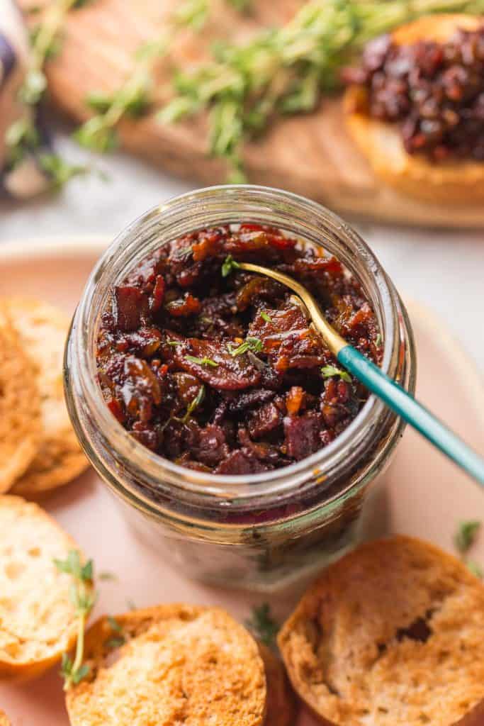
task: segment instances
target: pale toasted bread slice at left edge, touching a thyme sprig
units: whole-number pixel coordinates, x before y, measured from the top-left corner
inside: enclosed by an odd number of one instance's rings
[[[0,497],[0,678],[33,678],[75,641],[65,560],[77,545],[41,507]]]

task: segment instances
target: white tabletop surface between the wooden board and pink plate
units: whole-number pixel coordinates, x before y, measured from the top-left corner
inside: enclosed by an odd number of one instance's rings
[[[70,159],[86,158],[67,139],[61,139],[60,149]],[[0,242],[18,240],[21,245],[26,238],[84,233],[114,236],[148,208],[190,188],[123,154],[92,161],[109,180],[91,174],[71,181],[61,195],[0,205]],[[484,231],[355,226],[402,295],[446,319],[454,338],[484,371]]]

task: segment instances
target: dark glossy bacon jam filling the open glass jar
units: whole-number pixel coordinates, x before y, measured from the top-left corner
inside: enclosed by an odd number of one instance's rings
[[[377,364],[382,356],[369,301],[335,257],[258,224],[201,229],[163,245],[111,291],[99,383],[141,444],[214,474],[264,472],[313,454],[367,396],[291,291],[239,261],[295,277],[349,343]]]

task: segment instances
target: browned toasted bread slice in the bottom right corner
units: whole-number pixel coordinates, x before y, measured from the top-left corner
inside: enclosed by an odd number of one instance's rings
[[[477,724],[484,587],[418,539],[364,544],[303,595],[279,648],[295,690],[326,725]]]

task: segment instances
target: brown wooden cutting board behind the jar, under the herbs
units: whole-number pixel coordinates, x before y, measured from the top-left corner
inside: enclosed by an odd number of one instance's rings
[[[44,0],[48,4],[52,0]],[[208,57],[216,38],[244,40],[267,25],[286,22],[304,0],[253,0],[242,16],[223,0],[202,33],[183,31],[171,57],[157,68],[158,105],[169,99],[173,67],[189,68]],[[22,7],[37,0],[20,0]],[[70,12],[62,52],[49,63],[49,89],[54,104],[75,121],[89,116],[84,99],[92,91],[110,92],[129,73],[134,51],[160,35],[177,0],[92,0]],[[196,118],[162,126],[153,115],[120,126],[127,150],[177,176],[204,184],[223,182],[225,169],[206,155],[207,120]],[[419,203],[393,192],[377,179],[345,131],[338,99],[321,102],[310,115],[284,118],[245,150],[250,181],[312,197],[342,214],[402,224],[435,227],[484,227],[482,207]]]

